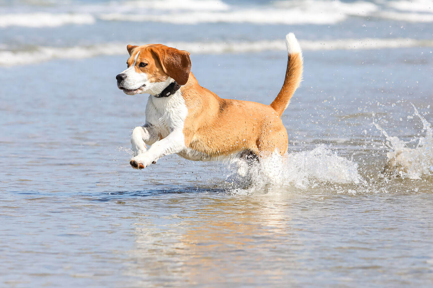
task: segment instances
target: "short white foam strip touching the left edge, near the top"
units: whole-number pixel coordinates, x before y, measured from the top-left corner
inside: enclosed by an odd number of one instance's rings
[[[66,24],[93,24],[94,16],[90,14],[68,13],[10,13],[0,15],[0,27],[57,27]]]

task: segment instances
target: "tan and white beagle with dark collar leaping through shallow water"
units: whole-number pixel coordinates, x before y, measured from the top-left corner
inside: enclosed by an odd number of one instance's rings
[[[142,169],[173,153],[194,161],[241,162],[284,154],[288,135],[280,117],[303,70],[301,47],[293,33],[286,36],[286,44],[286,76],[270,105],[222,99],[200,86],[187,51],[162,44],[128,45],[128,68],[116,76],[117,86],[128,95],[150,94],[145,125],[132,132],[131,166]]]

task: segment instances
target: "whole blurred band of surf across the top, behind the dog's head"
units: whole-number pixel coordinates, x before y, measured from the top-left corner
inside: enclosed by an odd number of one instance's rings
[[[123,54],[130,43],[201,54],[284,50],[289,30],[304,50],[431,47],[432,6],[428,0],[6,0],[0,65]]]

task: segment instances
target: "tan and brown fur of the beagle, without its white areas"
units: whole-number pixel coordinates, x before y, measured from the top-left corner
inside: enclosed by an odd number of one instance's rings
[[[241,151],[268,155],[278,150],[284,154],[288,134],[280,115],[286,109],[302,77],[301,54],[289,55],[283,87],[271,105],[257,102],[221,99],[199,85],[191,73],[189,53],[161,44],[128,45],[128,65],[140,52],[135,69],[147,73],[151,82],[171,77],[181,87],[188,109],[184,122],[186,147],[210,157],[230,156]],[[148,65],[139,67],[140,62]]]

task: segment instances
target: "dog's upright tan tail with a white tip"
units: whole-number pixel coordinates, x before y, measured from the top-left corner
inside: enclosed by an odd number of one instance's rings
[[[284,110],[289,105],[290,98],[292,98],[302,80],[302,51],[293,33],[286,35],[286,45],[289,55],[286,78],[284,79],[280,93],[278,93],[277,98],[271,103],[271,107],[274,108],[279,115],[283,114]]]

